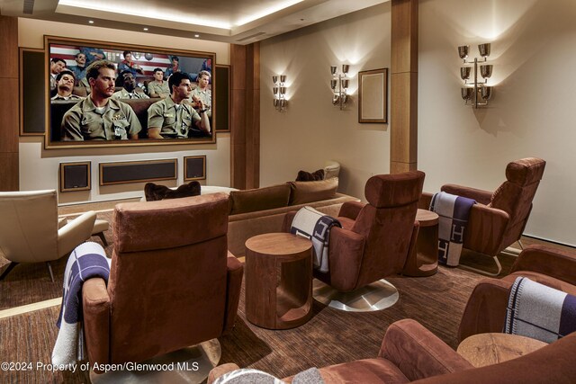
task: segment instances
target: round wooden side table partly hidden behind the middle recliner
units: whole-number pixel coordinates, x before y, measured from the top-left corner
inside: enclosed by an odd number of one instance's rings
[[[438,215],[431,210],[418,210],[419,232],[416,247],[412,249],[403,275],[431,276],[438,272]]]

